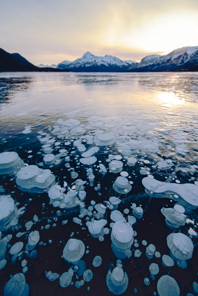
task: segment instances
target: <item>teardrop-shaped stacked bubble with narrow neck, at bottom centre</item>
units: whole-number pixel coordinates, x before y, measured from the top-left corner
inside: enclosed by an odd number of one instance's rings
[[[122,269],[122,261],[117,260],[116,267],[108,271],[106,284],[110,292],[114,295],[123,294],[128,287],[129,279],[127,273]]]

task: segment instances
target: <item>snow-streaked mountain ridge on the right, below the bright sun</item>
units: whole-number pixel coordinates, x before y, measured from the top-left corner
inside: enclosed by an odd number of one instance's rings
[[[198,65],[198,46],[178,48],[166,55],[153,54],[132,65],[132,72],[165,71]]]

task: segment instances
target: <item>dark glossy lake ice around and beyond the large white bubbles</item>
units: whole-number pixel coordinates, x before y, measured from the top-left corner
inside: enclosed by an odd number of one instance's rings
[[[149,198],[145,193],[141,181],[146,175],[140,173],[140,168],[149,168],[147,172],[159,181],[169,181],[180,184],[198,181],[198,74],[197,73],[1,73],[0,74],[0,153],[4,151],[15,151],[19,157],[28,165],[38,165],[43,169],[50,169],[56,177],[56,182],[63,186],[66,181],[68,185],[75,180],[71,179],[71,171],[74,169],[83,181],[88,182],[86,176],[86,165],[76,165],[76,156],[81,157],[81,153],[73,146],[72,142],[82,136],[95,136],[97,131],[112,132],[116,140],[107,146],[99,146],[100,150],[95,154],[97,162],[92,165],[95,175],[94,186],[85,184],[87,197],[84,200],[86,208],[91,200],[96,203],[103,203],[111,196],[120,197],[122,200],[118,210],[123,213],[124,209],[130,210],[131,204],[141,205],[144,210],[143,218],[136,221],[132,226],[137,232],[135,239],[138,240],[138,249],[142,252],[140,258],[134,257],[132,246],[132,256],[122,260],[124,272],[127,272],[129,285],[124,295],[135,295],[134,288],[138,289],[138,295],[153,295],[157,292],[157,280],[164,274],[172,276],[178,283],[181,295],[192,293],[192,283],[197,281],[197,237],[191,236],[194,244],[193,257],[188,260],[186,269],[179,268],[176,264],[171,268],[162,266],[162,255],[169,255],[166,238],[172,232],[182,232],[189,236],[188,230],[192,224],[186,224],[179,229],[170,229],[165,224],[165,217],[161,213],[162,207],[173,207],[174,200],[165,198]],[[79,125],[86,129],[82,135],[71,135],[68,133],[52,133],[54,125],[61,127],[61,122],[68,119],[79,120]],[[62,121],[61,121],[62,120]],[[58,122],[57,122],[58,121]],[[25,127],[31,126],[30,133],[22,133]],[[64,126],[64,125],[63,125]],[[56,155],[59,149],[67,149],[70,152],[70,167],[61,165],[46,165],[43,162],[42,143],[39,141],[42,131],[53,137],[59,145],[53,146],[52,154]],[[46,136],[46,135],[44,135]],[[71,141],[70,145],[65,142]],[[87,149],[95,144],[86,144]],[[133,147],[133,156],[137,163],[134,166],[127,165],[127,159],[122,155],[123,171],[126,171],[132,181],[132,190],[127,194],[120,195],[115,192],[112,185],[119,173],[107,172],[104,176],[98,172],[99,161],[108,168],[108,155],[121,155],[119,147],[122,144],[129,144]],[[168,146],[169,145],[169,146]],[[183,147],[176,149],[176,147]],[[170,148],[171,147],[171,148]],[[72,149],[74,148],[74,149]],[[183,149],[183,150],[182,150]],[[32,151],[29,152],[28,151]],[[72,151],[75,153],[71,154]],[[39,153],[38,153],[39,152]],[[31,156],[31,157],[30,157]],[[157,157],[157,158],[155,158]],[[141,160],[140,160],[141,159]],[[156,159],[156,160],[154,160]],[[157,167],[157,162],[171,159],[174,163],[172,168],[161,170]],[[149,160],[145,165],[143,160]],[[77,168],[76,168],[77,166]],[[89,166],[90,167],[90,166]],[[10,181],[11,180],[11,181]],[[98,182],[101,184],[101,195],[94,187]],[[90,235],[86,223],[86,216],[82,218],[82,225],[72,221],[80,214],[79,207],[72,210],[58,209],[49,205],[47,193],[29,194],[18,189],[15,183],[15,176],[0,176],[1,194],[10,194],[17,207],[25,206],[25,213],[20,216],[17,226],[7,231],[2,230],[1,237],[12,234],[10,244],[16,242],[27,243],[29,233],[25,231],[25,223],[33,220],[36,214],[39,221],[33,224],[31,231],[38,230],[40,240],[46,245],[39,246],[36,250],[38,255],[31,259],[22,255],[21,260],[28,261],[28,271],[25,274],[26,282],[30,286],[30,295],[112,295],[106,286],[106,274],[108,269],[116,266],[117,258],[111,250],[110,234],[104,236],[104,241]],[[4,192],[3,192],[4,189]],[[45,203],[45,206],[42,204]],[[57,210],[60,213],[57,214]],[[110,210],[106,210],[104,219],[107,220],[105,227],[111,229]],[[197,209],[189,213],[189,218],[193,219],[194,225],[198,223]],[[54,219],[58,218],[56,222]],[[52,222],[47,222],[50,219]],[[68,220],[66,225],[62,225],[63,220]],[[49,229],[41,230],[41,226],[50,224]],[[52,227],[52,223],[56,223]],[[85,228],[85,229],[83,229]],[[196,231],[196,228],[194,228]],[[18,232],[25,234],[17,238]],[[30,232],[30,231],[29,231]],[[93,271],[93,279],[78,290],[73,286],[65,289],[59,286],[58,279],[49,282],[45,272],[52,271],[58,274],[68,271],[70,263],[65,262],[61,256],[63,248],[71,233],[73,238],[80,239],[85,244],[82,260],[86,262],[87,269]],[[111,231],[110,231],[111,233]],[[148,244],[154,244],[156,251],[161,253],[160,258],[155,256],[149,260],[145,255],[146,247],[142,245],[142,240]],[[52,242],[51,242],[51,241]],[[89,249],[87,248],[89,247]],[[9,249],[8,249],[9,251]],[[100,267],[93,267],[93,258],[99,255],[103,262]],[[11,274],[22,272],[21,260],[11,261],[11,255],[6,255],[7,264],[0,270],[0,291]],[[159,274],[155,281],[150,279],[150,285],[143,282],[145,277],[149,277],[149,265],[157,263]],[[76,279],[74,273],[72,281],[82,280],[82,276]],[[90,291],[87,287],[90,286]]]

